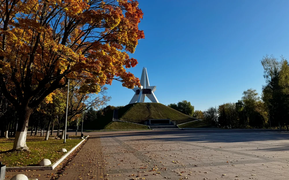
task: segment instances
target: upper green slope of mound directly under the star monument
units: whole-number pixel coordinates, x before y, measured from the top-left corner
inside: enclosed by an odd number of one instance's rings
[[[176,124],[197,120],[161,103],[134,103],[118,110],[118,119],[144,124],[147,119],[171,119]]]

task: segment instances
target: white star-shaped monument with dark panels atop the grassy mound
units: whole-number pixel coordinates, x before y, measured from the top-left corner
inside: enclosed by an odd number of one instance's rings
[[[149,85],[149,77],[147,76],[147,68],[142,68],[142,77],[140,78],[140,87],[132,89],[135,94],[132,97],[129,104],[132,103],[144,103],[144,97],[147,96],[149,100],[153,103],[158,103],[158,99],[155,97],[155,92],[157,86]]]

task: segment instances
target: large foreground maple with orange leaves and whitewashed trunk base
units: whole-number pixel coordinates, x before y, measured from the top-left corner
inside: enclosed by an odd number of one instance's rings
[[[7,0],[0,8],[0,88],[19,118],[13,149],[28,149],[29,116],[68,79],[83,82],[83,93],[113,79],[140,86],[125,69],[137,64],[127,52],[144,38],[137,1]]]

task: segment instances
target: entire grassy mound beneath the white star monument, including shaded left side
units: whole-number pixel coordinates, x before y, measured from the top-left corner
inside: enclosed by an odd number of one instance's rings
[[[136,125],[131,125],[131,123],[112,122],[112,117],[113,111],[109,111],[96,120],[84,124],[83,128],[87,130],[147,128],[147,126],[141,125],[138,128],[134,128],[132,126]],[[118,119],[138,124],[144,124],[144,121],[147,119],[171,119],[172,121],[176,121],[176,124],[197,120],[161,103],[134,103],[126,105],[118,109]]]

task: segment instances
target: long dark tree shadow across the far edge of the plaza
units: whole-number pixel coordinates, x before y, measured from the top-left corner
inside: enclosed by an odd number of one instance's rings
[[[102,134],[101,137],[118,138],[120,141],[150,140],[178,141],[188,143],[247,143],[253,141],[289,140],[289,133],[278,132],[277,130],[175,130],[145,132],[106,132],[106,134]],[[284,148],[284,146],[282,148]],[[288,150],[288,148],[286,150]]]

